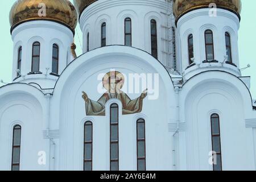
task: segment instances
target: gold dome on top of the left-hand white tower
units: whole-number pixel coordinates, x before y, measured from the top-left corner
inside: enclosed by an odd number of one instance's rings
[[[46,16],[40,17],[38,14],[42,9],[40,3],[46,5]],[[51,20],[64,24],[75,33],[77,13],[68,0],[17,0],[10,11],[11,31],[30,20]]]

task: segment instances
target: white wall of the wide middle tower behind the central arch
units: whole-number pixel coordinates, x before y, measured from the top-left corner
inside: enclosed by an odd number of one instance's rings
[[[171,27],[167,14],[171,3],[164,0],[100,0],[86,7],[80,16],[83,33],[83,52],[87,48],[89,32],[89,50],[101,47],[101,24],[106,23],[106,45],[124,45],[124,20],[131,18],[132,46],[151,53],[150,20],[155,19],[158,31],[158,60],[166,66],[171,65],[168,56],[168,33]]]

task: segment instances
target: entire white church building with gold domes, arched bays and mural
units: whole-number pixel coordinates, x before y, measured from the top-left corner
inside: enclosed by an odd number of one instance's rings
[[[240,0],[74,2],[18,0],[10,11],[0,170],[256,169]]]

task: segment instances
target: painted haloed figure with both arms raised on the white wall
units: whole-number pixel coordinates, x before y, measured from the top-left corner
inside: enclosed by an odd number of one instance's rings
[[[112,98],[117,98],[122,102],[123,114],[141,113],[143,100],[147,97],[147,89],[142,92],[140,97],[131,100],[129,96],[121,90],[124,82],[125,78],[122,73],[117,71],[109,72],[102,78],[102,84],[108,91],[105,92],[97,102],[90,100],[88,95],[82,92],[82,98],[85,101],[86,115],[105,115],[106,102]]]

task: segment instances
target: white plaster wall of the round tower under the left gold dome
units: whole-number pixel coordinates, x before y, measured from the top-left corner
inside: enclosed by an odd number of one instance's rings
[[[13,79],[16,78],[17,74],[18,49],[22,46],[22,77],[16,79],[15,82],[36,82],[42,88],[53,88],[57,77],[49,75],[52,72],[52,46],[53,44],[59,46],[60,74],[71,61],[67,60],[67,57],[71,57],[72,31],[59,23],[35,20],[20,24],[14,28],[11,36],[14,42]],[[27,73],[31,72],[32,44],[34,42],[40,43],[41,75],[27,75]],[[49,68],[48,73],[46,68]]]

